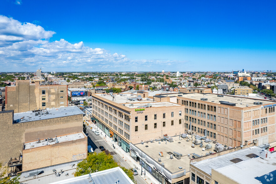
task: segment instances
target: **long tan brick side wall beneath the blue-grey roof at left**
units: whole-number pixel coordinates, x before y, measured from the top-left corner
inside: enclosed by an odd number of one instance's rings
[[[0,113],[0,161],[18,157],[24,142],[83,131],[83,115],[13,123],[13,111]]]

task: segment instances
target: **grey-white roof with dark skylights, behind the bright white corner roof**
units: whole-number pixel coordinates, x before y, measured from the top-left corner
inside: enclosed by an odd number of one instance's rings
[[[246,155],[249,155],[251,153],[259,156],[259,150],[262,150],[262,149],[257,146],[252,146],[250,148],[241,149],[241,150],[234,151],[234,152],[224,154],[221,156],[217,156],[214,158],[209,158],[209,159],[206,159],[203,161],[198,161],[196,163],[192,162],[191,164],[193,166],[199,168],[200,170],[206,172],[207,174],[211,175],[212,169],[219,169],[219,168],[223,168],[226,166],[235,165],[234,163],[230,162],[230,160],[232,160],[232,159],[239,158],[243,161],[251,160],[250,158],[246,157]],[[241,162],[243,162],[243,161],[241,161]],[[241,162],[239,162],[239,163],[241,163]],[[249,167],[251,167],[251,166],[249,166]],[[250,183],[250,182],[248,182],[248,183]]]

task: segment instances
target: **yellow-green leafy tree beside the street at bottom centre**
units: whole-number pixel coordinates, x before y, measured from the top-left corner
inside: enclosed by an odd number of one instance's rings
[[[78,168],[74,176],[82,176],[93,172],[112,169],[118,166],[118,163],[114,161],[112,155],[106,155],[105,152],[93,152],[92,154],[88,154],[86,159],[78,163]],[[133,173],[129,169],[125,167],[121,167],[121,169],[128,175],[128,177],[133,182],[135,182]]]

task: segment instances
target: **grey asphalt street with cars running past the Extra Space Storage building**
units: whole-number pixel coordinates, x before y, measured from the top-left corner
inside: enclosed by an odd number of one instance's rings
[[[88,145],[90,145],[93,148],[93,151],[95,151],[96,153],[101,152],[99,150],[99,146],[103,146],[106,150],[112,152],[115,151],[113,149],[113,147],[111,145],[109,145],[106,141],[103,140],[101,135],[95,135],[92,130],[86,126],[86,134],[88,137]],[[115,154],[113,155],[114,160],[120,164],[120,166],[123,166],[125,168],[130,168],[132,166],[128,165],[128,163],[123,160],[123,158],[121,158],[121,156]],[[141,176],[139,175],[139,173],[141,172],[141,169],[138,169],[138,175],[135,175],[134,178],[137,181],[137,184],[147,184],[147,182],[145,180],[143,180],[141,178]]]

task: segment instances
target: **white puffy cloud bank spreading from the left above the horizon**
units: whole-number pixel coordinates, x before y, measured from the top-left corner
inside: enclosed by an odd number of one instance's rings
[[[69,43],[64,39],[50,42],[54,31],[33,23],[21,23],[0,15],[0,61],[2,71],[150,71],[164,65],[183,66],[188,61],[132,60],[105,49]],[[182,67],[183,68],[183,67]],[[162,70],[162,69],[161,69]]]

